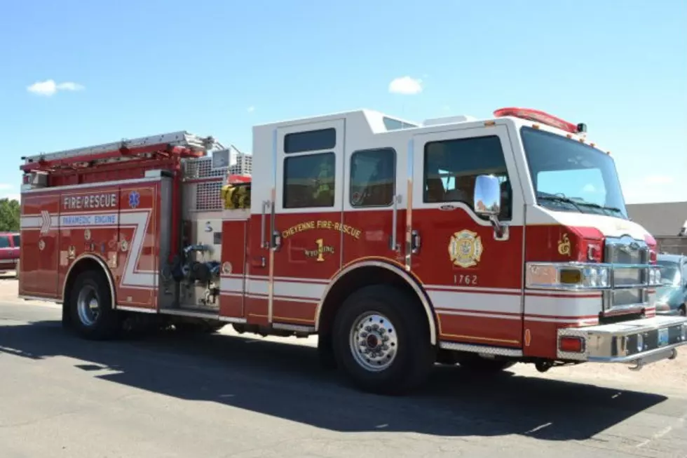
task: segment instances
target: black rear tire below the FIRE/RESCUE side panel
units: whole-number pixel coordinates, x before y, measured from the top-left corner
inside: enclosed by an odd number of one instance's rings
[[[69,294],[69,315],[72,328],[86,339],[104,340],[116,337],[121,330],[119,315],[112,309],[112,296],[102,272],[84,271],[74,281]],[[79,310],[80,304],[93,298],[97,301],[97,316],[88,321]],[[83,307],[85,309],[86,307]],[[83,311],[82,309],[82,311]],[[87,312],[83,312],[87,313]]]

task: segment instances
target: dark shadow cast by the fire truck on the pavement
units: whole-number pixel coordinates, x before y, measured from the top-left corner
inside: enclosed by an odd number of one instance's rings
[[[55,321],[0,325],[0,363],[3,353],[36,361],[76,358],[83,361],[76,368],[110,382],[341,432],[585,440],[666,400],[512,372],[479,377],[438,366],[419,393],[374,396],[350,389],[336,373],[322,370],[312,346],[165,332],[137,340],[87,342]]]

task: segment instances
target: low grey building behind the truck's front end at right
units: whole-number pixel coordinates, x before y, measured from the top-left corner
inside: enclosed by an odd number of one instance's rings
[[[627,213],[654,236],[661,252],[687,255],[687,202],[631,203]]]

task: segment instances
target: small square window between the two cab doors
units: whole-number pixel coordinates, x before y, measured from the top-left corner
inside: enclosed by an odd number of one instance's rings
[[[395,149],[368,149],[351,154],[349,185],[351,206],[390,206],[396,192]]]

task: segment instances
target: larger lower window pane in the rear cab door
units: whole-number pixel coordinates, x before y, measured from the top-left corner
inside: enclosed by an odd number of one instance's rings
[[[333,207],[335,176],[334,153],[287,157],[284,159],[284,208]]]

